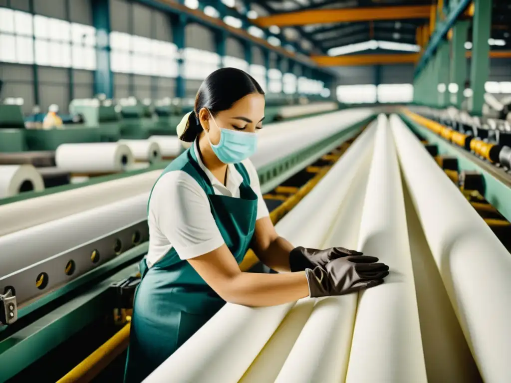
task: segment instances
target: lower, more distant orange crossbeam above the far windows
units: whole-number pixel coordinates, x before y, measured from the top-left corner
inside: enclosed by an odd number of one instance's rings
[[[399,55],[311,56],[311,59],[318,66],[356,66],[415,64],[419,61],[419,57],[419,53],[406,53]]]

